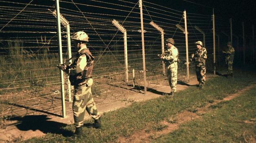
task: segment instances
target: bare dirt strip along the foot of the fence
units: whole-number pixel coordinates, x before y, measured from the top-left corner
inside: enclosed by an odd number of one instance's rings
[[[214,78],[216,75],[208,74],[209,78]],[[166,83],[168,81],[166,80]],[[184,90],[189,86],[198,84],[197,80],[193,78],[189,83],[178,81],[177,91]],[[153,89],[154,87],[154,89]],[[170,87],[165,85],[150,84],[148,87],[147,95],[144,95],[135,91],[124,91],[124,93],[115,93],[110,95],[108,98],[94,97],[95,103],[98,107],[100,114],[108,111],[113,111],[121,107],[127,107],[133,102],[146,101],[155,99],[163,96],[164,94],[170,93]],[[23,118],[23,122],[28,120],[37,120],[36,123],[18,124],[16,126],[8,126],[7,128],[0,129],[0,143],[2,142],[13,142],[30,139],[32,137],[44,136],[47,132],[58,133],[58,127],[66,124],[73,124],[72,104],[68,104],[66,107],[66,117],[56,117],[52,115],[38,115],[28,116]],[[90,119],[90,116],[87,116]]]

